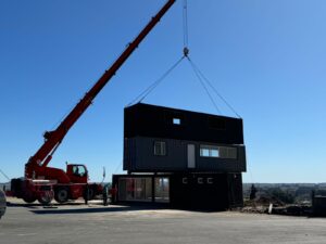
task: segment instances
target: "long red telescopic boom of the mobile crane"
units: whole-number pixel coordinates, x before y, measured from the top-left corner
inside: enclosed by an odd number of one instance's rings
[[[168,0],[163,8],[156,13],[154,17],[147,24],[147,26],[140,31],[136,39],[129,43],[125,51],[120,57],[112,64],[112,66],[104,72],[100,79],[92,86],[92,88],[84,95],[84,98],[76,104],[71,113],[62,120],[55,130],[47,131],[45,137],[45,143],[40,149],[32,156],[28,163],[25,165],[25,177],[32,177],[33,167],[47,167],[52,158],[53,153],[68,132],[74,126],[83,113],[89,107],[92,100],[102,90],[102,88],[111,80],[118,68],[129,57],[129,55],[137,49],[140,42],[151,31],[151,29],[160,22],[161,17],[170,10],[176,0]]]

